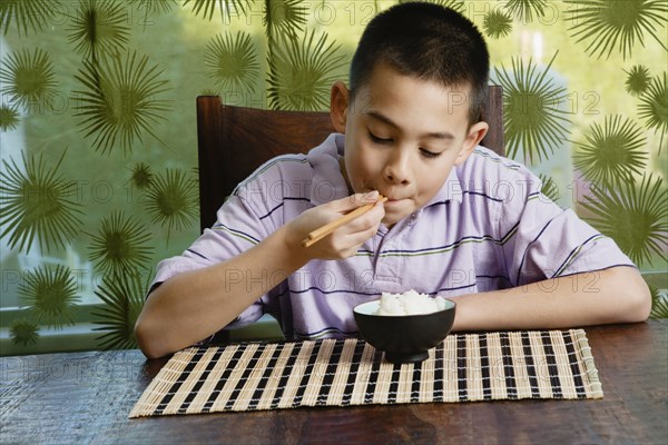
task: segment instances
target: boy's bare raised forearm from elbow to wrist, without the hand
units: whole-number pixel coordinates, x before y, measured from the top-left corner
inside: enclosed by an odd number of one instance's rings
[[[139,347],[155,358],[207,338],[305,263],[277,230],[228,261],[174,276],[146,300],[135,328]]]

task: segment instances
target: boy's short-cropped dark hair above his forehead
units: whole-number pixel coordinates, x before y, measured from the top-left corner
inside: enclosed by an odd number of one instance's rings
[[[382,63],[443,86],[470,85],[469,125],[480,120],[490,56],[478,28],[459,12],[433,3],[406,2],[374,17],[351,63],[351,99]]]

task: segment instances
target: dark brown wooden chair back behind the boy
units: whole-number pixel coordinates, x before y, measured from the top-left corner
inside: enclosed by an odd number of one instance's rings
[[[490,130],[482,145],[503,155],[503,97],[490,86],[482,119]],[[328,112],[273,111],[223,105],[218,96],[197,98],[199,224],[216,211],[237,184],[271,158],[306,152],[333,132]]]

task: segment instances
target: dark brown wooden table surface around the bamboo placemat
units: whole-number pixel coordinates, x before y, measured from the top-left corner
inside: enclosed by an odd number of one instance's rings
[[[588,443],[668,441],[668,320],[587,328],[598,400],[127,415],[166,360],[138,350],[0,359],[2,444]]]

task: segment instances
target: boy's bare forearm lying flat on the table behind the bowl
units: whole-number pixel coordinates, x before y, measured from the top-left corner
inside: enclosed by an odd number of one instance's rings
[[[551,278],[455,298],[453,330],[567,328],[642,322],[651,296],[636,268]]]

